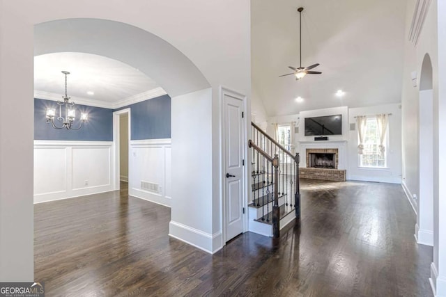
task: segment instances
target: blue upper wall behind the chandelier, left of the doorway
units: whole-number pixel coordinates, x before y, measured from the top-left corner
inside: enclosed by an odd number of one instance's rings
[[[59,115],[59,106],[56,102],[34,99],[34,139],[42,141],[113,141],[112,109],[76,104],[75,127],[79,124],[81,113],[89,113],[89,121],[83,125],[82,129],[74,131],[54,129],[51,124],[47,124],[45,115],[49,107],[56,109],[56,115]],[[55,122],[60,126],[57,120]]]

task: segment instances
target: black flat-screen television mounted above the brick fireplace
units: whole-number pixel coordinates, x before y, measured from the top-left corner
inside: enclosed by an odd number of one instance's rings
[[[305,136],[342,135],[342,115],[305,118]]]

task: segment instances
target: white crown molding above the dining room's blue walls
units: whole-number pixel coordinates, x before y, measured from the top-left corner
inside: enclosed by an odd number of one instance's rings
[[[122,100],[119,100],[118,102],[105,102],[96,99],[89,99],[75,96],[70,97],[70,99],[72,100],[72,102],[75,102],[76,104],[102,107],[105,109],[119,109],[123,106],[128,106],[130,104],[135,104],[148,99],[153,99],[156,97],[160,97],[162,95],[167,95],[167,92],[163,88],[158,87],[143,93],[139,93],[137,95],[124,98]],[[43,90],[34,90],[34,98],[47,99],[52,101],[62,101],[63,99],[61,94],[49,93]]]

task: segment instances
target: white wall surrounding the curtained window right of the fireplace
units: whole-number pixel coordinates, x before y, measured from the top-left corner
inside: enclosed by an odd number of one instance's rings
[[[387,154],[387,168],[360,168],[357,154],[357,125],[355,117],[358,115],[376,115],[378,113],[392,113],[389,115],[389,146],[385,147]],[[348,123],[355,124],[355,130],[348,131],[348,170],[347,178],[368,182],[390,182],[401,184],[401,109],[400,104],[385,104],[348,109]]]

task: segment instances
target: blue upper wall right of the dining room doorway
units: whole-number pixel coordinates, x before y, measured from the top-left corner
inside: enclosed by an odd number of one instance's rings
[[[132,141],[171,138],[171,98],[162,95],[124,106],[131,109]]]

